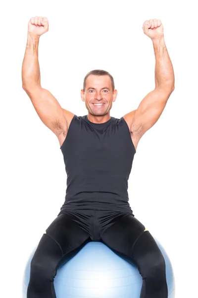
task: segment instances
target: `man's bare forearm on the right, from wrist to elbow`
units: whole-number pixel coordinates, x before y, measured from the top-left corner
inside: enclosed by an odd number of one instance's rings
[[[174,71],[164,37],[153,40],[152,43],[155,54],[155,88],[166,86],[174,88]]]

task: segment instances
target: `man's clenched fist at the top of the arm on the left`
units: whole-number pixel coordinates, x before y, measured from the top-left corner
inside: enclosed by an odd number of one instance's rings
[[[28,32],[31,35],[40,37],[42,34],[48,32],[48,30],[49,30],[49,21],[47,17],[35,16],[29,20]]]

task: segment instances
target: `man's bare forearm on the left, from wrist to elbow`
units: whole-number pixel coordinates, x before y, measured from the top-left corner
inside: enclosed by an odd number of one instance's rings
[[[23,88],[30,88],[41,85],[41,75],[39,67],[39,38],[28,33],[25,56],[22,65]]]

